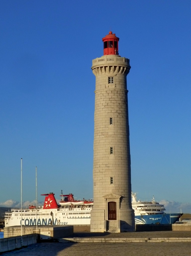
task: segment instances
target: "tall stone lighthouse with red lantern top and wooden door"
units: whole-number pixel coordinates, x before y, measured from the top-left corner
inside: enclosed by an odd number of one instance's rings
[[[118,55],[119,38],[110,31],[103,56],[92,61],[96,76],[91,232],[134,232],[127,80],[129,59]]]

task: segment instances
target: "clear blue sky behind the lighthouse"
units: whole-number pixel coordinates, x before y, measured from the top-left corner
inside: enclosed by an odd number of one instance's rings
[[[40,194],[92,198],[95,77],[102,38],[120,38],[132,190],[191,213],[190,1],[0,3],[0,206]]]

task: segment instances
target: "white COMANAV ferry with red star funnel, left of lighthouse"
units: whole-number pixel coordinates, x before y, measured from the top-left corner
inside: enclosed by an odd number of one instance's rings
[[[12,208],[5,212],[5,227],[31,225],[88,225],[90,224],[93,201],[74,200],[73,194],[61,195],[62,199],[57,204],[53,193],[42,194],[45,196],[44,205],[29,208]]]

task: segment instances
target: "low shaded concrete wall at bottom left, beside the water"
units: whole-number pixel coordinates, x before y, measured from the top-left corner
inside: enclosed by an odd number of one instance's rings
[[[2,238],[0,239],[0,252],[12,251],[21,248],[22,246],[28,246],[34,243],[37,243],[37,234],[22,236],[22,245],[21,236]]]

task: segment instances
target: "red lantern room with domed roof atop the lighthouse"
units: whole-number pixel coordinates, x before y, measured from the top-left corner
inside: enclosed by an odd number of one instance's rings
[[[109,31],[109,35],[102,38],[103,41],[103,55],[119,55],[118,54],[118,41],[119,38]]]

